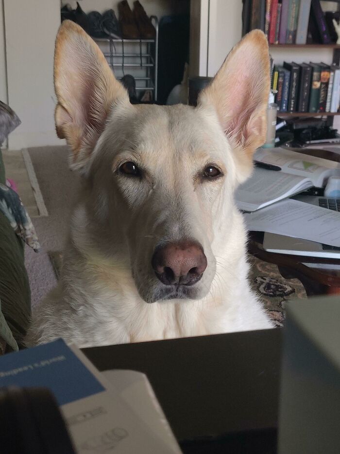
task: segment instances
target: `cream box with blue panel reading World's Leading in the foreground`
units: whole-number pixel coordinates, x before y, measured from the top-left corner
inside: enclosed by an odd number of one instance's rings
[[[62,339],[1,356],[2,386],[49,388],[77,453],[181,453],[144,374],[100,373]]]

